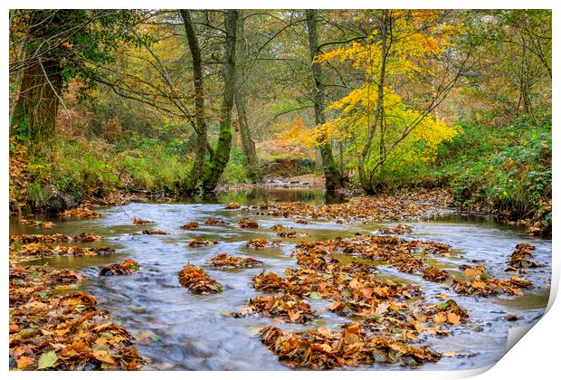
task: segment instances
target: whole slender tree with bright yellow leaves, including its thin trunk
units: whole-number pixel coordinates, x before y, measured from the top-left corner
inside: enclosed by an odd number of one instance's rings
[[[372,15],[376,29],[363,42],[319,57],[320,62],[348,62],[364,81],[329,106],[338,117],[316,132],[355,141],[350,150],[368,194],[380,189],[388,164],[431,159],[440,142],[455,136],[457,131],[432,112],[465,70],[464,58],[445,59],[456,27],[443,23],[442,13],[380,10]]]

